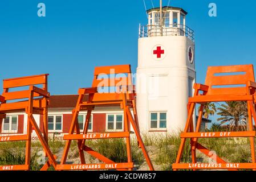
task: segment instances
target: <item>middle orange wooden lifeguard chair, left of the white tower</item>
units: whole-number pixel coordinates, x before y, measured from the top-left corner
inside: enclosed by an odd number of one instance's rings
[[[109,75],[107,78],[100,78],[100,75]],[[111,75],[121,75],[121,77],[111,77]],[[100,88],[116,88],[112,93],[100,93]],[[92,88],[81,88],[78,91],[79,97],[75,109],[68,135],[64,135],[63,139],[67,140],[66,146],[60,164],[57,165],[57,170],[87,170],[87,169],[117,169],[117,170],[132,170],[132,154],[130,143],[130,125],[135,131],[139,146],[141,147],[148,166],[153,170],[151,159],[148,156],[143,140],[140,136],[139,123],[137,120],[136,111],[136,94],[132,84],[132,73],[130,65],[115,65],[109,67],[96,67],[94,72],[94,80]],[[124,112],[124,131],[113,133],[88,133],[88,126],[92,110],[100,106],[119,106]],[[131,112],[133,111],[133,114]],[[80,134],[78,114],[79,111],[87,110],[86,122],[84,123],[83,133]],[[127,144],[127,163],[115,163],[105,156],[92,150],[85,145],[88,139],[109,139],[109,138],[125,138]],[[66,164],[68,150],[70,149],[71,140],[78,140],[78,149],[81,164]],[[94,156],[103,162],[103,164],[86,164],[84,159],[84,151]]]

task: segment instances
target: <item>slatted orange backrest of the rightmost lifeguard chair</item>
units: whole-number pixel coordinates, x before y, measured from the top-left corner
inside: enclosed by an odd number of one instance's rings
[[[248,81],[255,81],[253,65],[208,67],[205,85],[207,95],[247,94]]]

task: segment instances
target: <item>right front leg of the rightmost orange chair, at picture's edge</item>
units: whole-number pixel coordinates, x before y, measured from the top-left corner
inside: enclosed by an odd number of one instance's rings
[[[254,131],[252,115],[255,115],[255,110],[254,110],[254,107],[253,107],[253,101],[247,101],[247,110],[248,110],[248,119],[249,119],[249,121],[247,121],[247,122],[249,122],[249,130]],[[251,144],[251,160],[252,160],[253,163],[255,163],[254,137],[250,137],[250,144]],[[253,169],[253,171],[256,171],[256,169]]]

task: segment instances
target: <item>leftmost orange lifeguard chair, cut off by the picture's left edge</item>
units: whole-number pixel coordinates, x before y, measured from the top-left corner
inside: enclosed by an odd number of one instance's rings
[[[30,169],[30,150],[31,150],[31,132],[32,127],[36,134],[48,161],[41,170],[46,170],[51,165],[56,167],[55,157],[52,155],[50,148],[48,147],[48,98],[50,93],[47,91],[47,76],[36,75],[19,78],[11,78],[3,80],[3,94],[0,96],[0,123],[6,118],[6,113],[14,113],[19,111],[25,111],[27,114],[27,133],[23,135],[8,135],[4,140],[0,142],[13,142],[18,140],[26,140],[26,155],[24,165],[11,165],[0,166],[0,170],[29,170]],[[42,85],[42,88],[38,88],[35,85]],[[10,92],[13,88],[22,88],[23,86],[29,86],[28,90],[19,89],[19,91]],[[22,101],[21,101],[22,100]],[[11,102],[9,102],[11,101]],[[32,114],[43,115],[43,134],[39,130],[38,125]]]

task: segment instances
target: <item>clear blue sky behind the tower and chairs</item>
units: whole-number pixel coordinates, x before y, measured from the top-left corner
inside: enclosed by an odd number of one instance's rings
[[[37,16],[39,2],[45,18]],[[197,82],[208,65],[255,65],[256,1],[170,2],[188,11],[186,24],[196,33]],[[217,18],[208,16],[210,2]],[[131,64],[136,71],[138,27],[147,16],[143,0],[1,0],[0,22],[0,80],[50,73],[51,94],[75,94],[91,86],[95,66]]]

